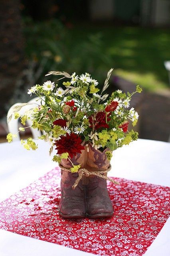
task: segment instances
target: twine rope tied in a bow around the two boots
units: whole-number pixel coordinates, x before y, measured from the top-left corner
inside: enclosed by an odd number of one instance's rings
[[[63,165],[59,164],[59,167],[66,172],[71,172],[70,168],[65,168]],[[79,176],[77,177],[77,179],[75,180],[75,183],[73,184],[72,188],[75,189],[77,187],[77,185],[79,184],[79,181],[83,178],[83,176],[89,177],[90,175],[95,175],[98,176],[100,178],[103,178],[104,180],[109,180],[110,182],[119,185],[120,183],[117,182],[116,180],[113,180],[107,176],[105,176],[104,174],[109,172],[111,170],[111,164],[109,165],[109,168],[107,170],[103,170],[103,171],[88,171],[85,168],[81,168],[78,171]]]

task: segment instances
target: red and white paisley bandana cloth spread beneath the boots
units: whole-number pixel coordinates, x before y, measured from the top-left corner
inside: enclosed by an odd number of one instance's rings
[[[114,178],[115,179],[115,178]],[[62,219],[55,168],[0,203],[0,228],[101,256],[142,256],[170,214],[169,188],[116,178],[111,218]]]

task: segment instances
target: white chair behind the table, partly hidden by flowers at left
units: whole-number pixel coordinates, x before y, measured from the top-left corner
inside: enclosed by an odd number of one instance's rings
[[[30,110],[31,108],[35,108],[35,107],[37,106],[37,104],[40,105],[40,104],[41,104],[41,99],[38,98],[38,97],[36,97],[36,98],[30,100],[28,103],[32,103],[32,104],[28,104],[28,105],[22,107],[20,111],[18,111],[18,113],[20,114],[20,116],[23,116],[24,113],[25,113],[27,110]],[[14,105],[9,109],[7,116],[10,116],[10,114],[13,112],[13,111],[12,111],[12,108],[13,108],[14,106],[17,106],[17,105],[20,105],[20,104],[21,104],[21,103],[19,103],[19,102],[16,103],[16,104],[14,104]],[[7,124],[8,124],[8,130],[9,130],[10,133],[16,134],[16,133],[18,132],[18,120],[19,120],[19,118],[17,118],[17,119],[12,118],[12,120],[11,120],[9,123],[7,123]],[[31,121],[31,120],[27,120],[26,122],[27,122],[28,126],[32,126],[32,121]],[[39,136],[42,135],[41,132],[40,132],[38,129],[33,129],[33,128],[31,128],[31,127],[30,127],[30,129],[31,129],[31,132],[32,132],[32,137],[33,137],[34,139],[37,139]],[[43,134],[44,134],[44,133],[43,133]],[[13,138],[13,141],[18,141],[18,140],[20,140],[20,132],[18,132],[17,135],[18,135],[18,136],[17,136],[16,138]]]

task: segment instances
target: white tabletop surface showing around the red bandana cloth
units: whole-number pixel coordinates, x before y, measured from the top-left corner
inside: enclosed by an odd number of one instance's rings
[[[0,144],[0,201],[26,187],[56,166],[49,145],[39,142],[35,152],[20,142]],[[110,176],[170,186],[170,143],[154,140],[132,142],[113,152]],[[170,218],[144,256],[168,256]],[[94,256],[94,254],[0,230],[0,256]]]

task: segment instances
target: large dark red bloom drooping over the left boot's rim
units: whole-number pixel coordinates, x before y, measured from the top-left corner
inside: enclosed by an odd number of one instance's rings
[[[69,156],[73,158],[73,155],[76,156],[77,153],[81,153],[81,150],[84,150],[85,147],[81,145],[81,138],[74,133],[70,135],[66,133],[66,136],[61,135],[60,139],[56,141],[55,145],[57,146],[57,154],[69,153]]]

